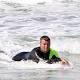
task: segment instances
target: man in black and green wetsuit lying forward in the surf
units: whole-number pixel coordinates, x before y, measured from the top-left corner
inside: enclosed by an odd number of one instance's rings
[[[61,59],[57,51],[50,48],[50,38],[48,36],[42,36],[40,38],[40,47],[34,48],[31,52],[21,52],[13,57],[13,60],[33,60],[39,62],[45,60],[47,63],[61,62],[67,63],[65,59]]]

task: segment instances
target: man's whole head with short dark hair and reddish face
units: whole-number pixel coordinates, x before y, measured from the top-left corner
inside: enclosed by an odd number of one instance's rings
[[[40,38],[40,49],[42,52],[47,53],[50,49],[50,38],[48,36],[42,36]]]

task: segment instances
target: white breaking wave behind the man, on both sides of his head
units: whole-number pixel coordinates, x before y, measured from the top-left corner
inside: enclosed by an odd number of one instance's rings
[[[8,38],[9,40],[2,40],[0,42],[0,53],[5,53],[10,57],[18,54],[22,51],[31,51],[34,47],[39,45],[38,41],[14,41],[13,39]],[[64,38],[64,39],[51,39],[51,48],[57,50],[58,52],[70,53],[70,54],[80,54],[80,40]]]

